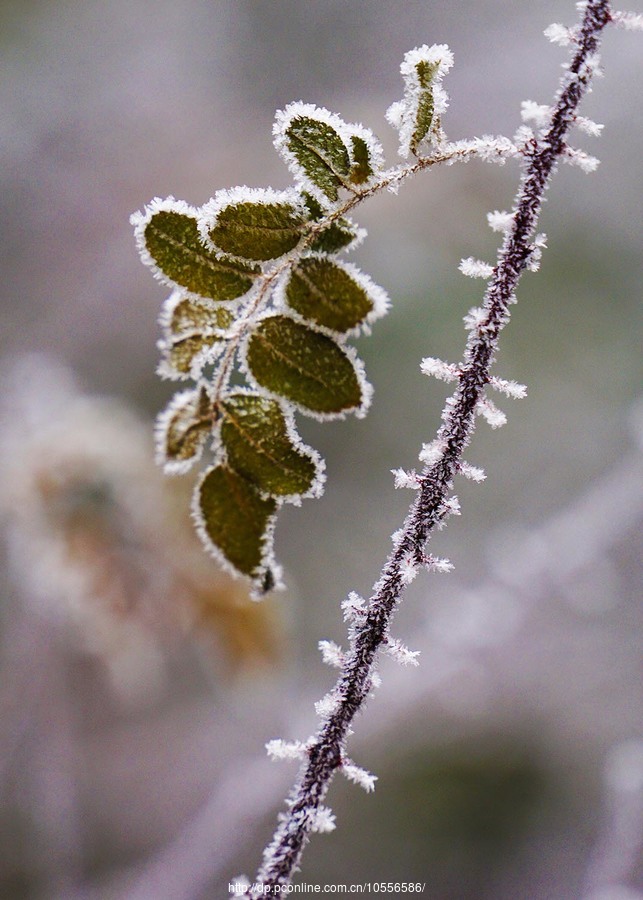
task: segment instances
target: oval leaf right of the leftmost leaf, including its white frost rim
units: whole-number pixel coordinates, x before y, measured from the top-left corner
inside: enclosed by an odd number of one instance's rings
[[[305,210],[295,191],[238,187],[218,191],[201,210],[206,246],[241,259],[264,261],[289,253],[302,238]]]

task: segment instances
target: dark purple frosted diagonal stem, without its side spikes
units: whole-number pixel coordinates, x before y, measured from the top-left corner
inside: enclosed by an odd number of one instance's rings
[[[515,288],[534,250],[530,239],[543,196],[557,160],[566,150],[565,136],[588,88],[601,32],[610,19],[609,0],[589,0],[576,39],[577,50],[552,109],[548,130],[534,139],[526,154],[528,164],[516,197],[512,226],[498,254],[485,294],[483,314],[471,331],[458,387],[443,413],[443,424],[438,431],[442,450],[437,460],[427,465],[419,476],[415,502],[374,587],[366,614],[361,622],[354,623],[351,651],[332,692],[337,698],[336,706],[314,742],[308,745],[308,761],[290,796],[289,808],[264,852],[256,879],[263,886],[264,894],[266,888],[290,883],[330,781],[345,762],[344,747],[350,725],[371,690],[376,654],[388,639],[389,625],[407,582],[404,568],[409,560],[416,566],[427,561],[426,543],[434,527],[449,512],[448,495],[462,463],[463,451],[473,435],[476,407],[484,399],[490,381],[500,332],[509,320]]]

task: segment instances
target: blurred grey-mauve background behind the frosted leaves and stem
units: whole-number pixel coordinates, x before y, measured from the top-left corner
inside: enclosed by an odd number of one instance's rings
[[[636,11],[641,11],[640,4]],[[397,140],[399,64],[448,43],[452,138],[511,136],[549,102],[574,4],[539,0],[2,0],[0,205],[0,896],[203,900],[252,877],[332,685],[317,642],[345,641],[339,603],[365,596],[408,492],[493,261],[485,215],[518,181],[470,163],[373,199],[351,255],[392,310],[361,339],[375,397],[362,421],[300,419],[326,458],[324,497],[280,515],[289,590],[252,604],[188,520],[190,479],[153,464],[166,291],[128,217],[154,196],[194,205],[236,184],[284,188],[276,108],[301,99]],[[497,374],[527,383],[469,451],[460,519],[395,625],[419,669],[382,664],[340,778],[337,830],[298,879],[420,881],[434,900],[643,897],[643,518],[640,36],[605,37],[583,113],[605,123],[591,175],[563,166],[545,206]]]

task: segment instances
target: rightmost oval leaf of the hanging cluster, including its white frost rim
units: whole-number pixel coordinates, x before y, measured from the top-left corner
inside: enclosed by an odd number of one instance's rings
[[[327,256],[301,259],[279,298],[302,318],[340,334],[358,331],[388,309],[382,288],[356,266]]]

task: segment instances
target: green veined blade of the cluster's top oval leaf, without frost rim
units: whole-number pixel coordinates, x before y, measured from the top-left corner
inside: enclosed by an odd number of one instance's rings
[[[337,131],[310,116],[295,116],[285,131],[286,146],[307,178],[329,200],[337,200],[351,162],[348,148]]]

